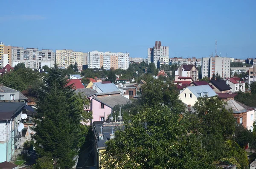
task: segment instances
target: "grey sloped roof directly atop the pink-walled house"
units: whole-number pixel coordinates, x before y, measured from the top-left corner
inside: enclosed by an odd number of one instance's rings
[[[95,97],[93,96],[93,99],[101,102],[101,103],[104,103],[105,105],[113,108],[114,106],[116,105],[124,105],[126,103],[130,103],[131,100],[129,100],[128,98],[122,96],[122,95],[119,95],[119,96],[106,96],[106,97]]]

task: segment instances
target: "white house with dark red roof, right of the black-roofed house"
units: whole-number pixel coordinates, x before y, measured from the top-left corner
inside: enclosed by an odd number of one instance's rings
[[[227,81],[228,85],[231,87],[230,91],[235,92],[245,92],[245,82],[239,77],[232,77],[224,79]]]

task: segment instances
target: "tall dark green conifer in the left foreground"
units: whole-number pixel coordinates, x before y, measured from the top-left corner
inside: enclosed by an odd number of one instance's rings
[[[67,86],[65,74],[57,65],[48,74],[38,96],[32,138],[38,154],[59,158],[61,168],[71,168],[88,131],[80,122],[92,118],[91,112],[84,111],[89,100],[76,95],[71,86]]]

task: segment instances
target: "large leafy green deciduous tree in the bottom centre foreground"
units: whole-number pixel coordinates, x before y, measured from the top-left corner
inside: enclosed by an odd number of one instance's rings
[[[172,110],[161,106],[137,113],[106,142],[101,167],[213,169],[211,156],[201,147],[201,136],[191,133],[188,119],[175,110],[176,106]]]

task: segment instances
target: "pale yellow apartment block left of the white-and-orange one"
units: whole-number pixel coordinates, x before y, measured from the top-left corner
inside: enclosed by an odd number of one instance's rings
[[[82,66],[85,63],[85,56],[86,54],[83,52],[74,52],[68,49],[56,50],[56,63],[63,69],[67,69],[71,64],[74,65],[77,63],[78,69],[82,70]]]

